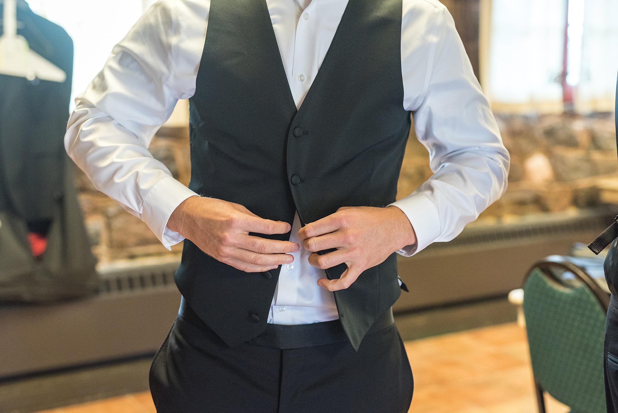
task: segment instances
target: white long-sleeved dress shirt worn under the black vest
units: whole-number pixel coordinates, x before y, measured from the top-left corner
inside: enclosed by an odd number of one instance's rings
[[[331,44],[347,0],[266,0],[287,81],[300,107]],[[183,237],[166,227],[174,209],[197,195],[148,152],[178,99],[192,97],[210,0],[159,0],[114,49],[77,99],[65,145],[96,188],[144,220],[163,245]],[[428,149],[434,175],[394,202],[415,229],[410,256],[449,241],[506,190],[509,154],[473,74],[453,19],[436,0],[403,0],[401,37],[405,110]],[[334,296],[316,281],[301,245],[282,266],[268,323],[338,318]]]

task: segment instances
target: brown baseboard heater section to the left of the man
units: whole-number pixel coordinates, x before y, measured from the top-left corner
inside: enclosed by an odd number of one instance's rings
[[[0,307],[0,378],[154,354],[180,304],[177,257],[103,266],[93,297]]]

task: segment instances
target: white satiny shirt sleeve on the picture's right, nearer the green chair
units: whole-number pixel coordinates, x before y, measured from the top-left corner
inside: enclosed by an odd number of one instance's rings
[[[392,204],[417,235],[415,245],[398,251],[411,256],[435,241],[452,240],[502,196],[509,153],[454,20],[437,1],[404,0],[402,74],[404,107],[413,113],[434,173]]]

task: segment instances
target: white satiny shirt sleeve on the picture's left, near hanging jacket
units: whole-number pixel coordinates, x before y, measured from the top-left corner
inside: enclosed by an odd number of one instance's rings
[[[151,6],[75,99],[65,136],[67,153],[96,188],[146,222],[167,248],[184,239],[166,227],[169,216],[196,194],[147,148],[177,100],[195,93],[209,6]]]

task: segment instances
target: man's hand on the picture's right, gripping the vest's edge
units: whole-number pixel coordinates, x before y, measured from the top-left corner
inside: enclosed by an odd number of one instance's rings
[[[329,291],[347,289],[363,271],[417,241],[410,220],[395,206],[342,207],[328,217],[305,225],[298,236],[305,249],[313,252],[309,256],[312,266],[327,269],[341,263],[347,265],[339,279],[318,280],[318,285]],[[332,248],[337,250],[318,254]]]

